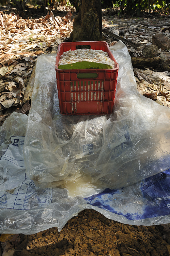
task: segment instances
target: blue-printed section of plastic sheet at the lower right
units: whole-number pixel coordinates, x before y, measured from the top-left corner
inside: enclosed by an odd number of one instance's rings
[[[170,223],[170,169],[122,189],[85,198],[87,208],[130,225]]]

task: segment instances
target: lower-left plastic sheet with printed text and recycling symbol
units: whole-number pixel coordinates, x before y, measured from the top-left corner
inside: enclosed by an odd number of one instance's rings
[[[0,230],[33,234],[59,230],[81,211],[82,197],[68,198],[63,188],[40,188],[26,175],[23,144],[27,115],[13,113],[0,127]]]

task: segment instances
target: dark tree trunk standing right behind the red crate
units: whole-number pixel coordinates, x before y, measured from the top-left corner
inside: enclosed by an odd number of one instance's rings
[[[70,41],[102,40],[101,0],[80,0],[79,13],[74,18]]]

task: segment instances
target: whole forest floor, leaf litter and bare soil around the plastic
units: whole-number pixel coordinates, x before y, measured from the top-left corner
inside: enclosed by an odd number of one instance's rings
[[[73,10],[63,7],[42,14],[38,9],[29,9],[17,15],[15,9],[5,6],[0,11],[2,125],[13,111],[28,114],[31,99],[25,103],[24,94],[36,58],[57,52],[58,44],[69,37]],[[137,49],[127,44],[131,56],[141,56],[146,45],[152,42],[153,34],[164,29],[164,34],[170,38],[170,16],[120,17],[118,12],[103,10],[103,28],[141,43]],[[115,43],[115,39],[106,34],[103,39],[109,45]],[[134,72],[140,93],[156,92],[155,100],[170,107],[170,72],[161,70],[160,65],[155,69],[134,69]],[[126,225],[86,209],[70,219],[60,232],[50,228],[33,235],[2,234],[0,241],[3,256],[168,256],[170,225]]]

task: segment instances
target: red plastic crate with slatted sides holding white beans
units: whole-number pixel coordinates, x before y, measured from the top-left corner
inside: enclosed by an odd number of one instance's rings
[[[90,45],[93,50],[107,52],[114,60],[114,69],[58,69],[63,52]],[[59,44],[56,57],[56,78],[60,113],[64,115],[110,114],[113,111],[119,64],[105,41],[65,42]],[[91,74],[92,78],[87,78]],[[79,77],[84,78],[79,78]],[[95,77],[95,78],[94,78]]]

